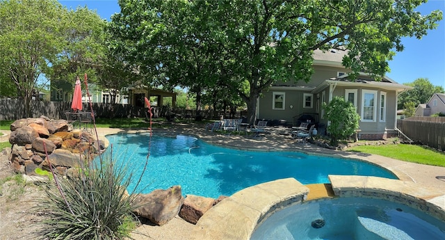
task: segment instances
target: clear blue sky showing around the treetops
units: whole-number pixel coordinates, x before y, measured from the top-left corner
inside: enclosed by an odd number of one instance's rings
[[[110,20],[113,13],[120,12],[118,0],[59,0],[67,8],[76,9],[77,6],[88,6],[91,10]],[[445,12],[444,0],[429,0],[419,8],[422,14],[432,10]],[[387,76],[398,83],[411,83],[419,78],[429,79],[435,86],[445,88],[445,20],[439,22],[439,27],[428,31],[428,35],[421,40],[403,38],[405,50],[397,52],[389,62],[391,72]]]

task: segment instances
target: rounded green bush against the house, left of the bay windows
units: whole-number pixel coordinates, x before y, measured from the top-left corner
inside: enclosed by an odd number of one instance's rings
[[[338,141],[346,140],[359,128],[360,116],[351,102],[346,102],[343,97],[334,97],[329,104],[323,104],[326,119],[330,122],[327,132],[331,138],[331,144],[337,145]]]

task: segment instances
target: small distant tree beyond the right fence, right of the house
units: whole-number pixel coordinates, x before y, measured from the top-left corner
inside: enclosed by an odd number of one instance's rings
[[[442,86],[434,86],[428,79],[416,79],[412,83],[405,83],[404,85],[413,87],[412,90],[407,90],[398,96],[397,108],[404,109],[407,103],[412,102],[415,106],[425,104],[430,97],[435,93],[445,93]],[[413,113],[414,115],[414,113]]]

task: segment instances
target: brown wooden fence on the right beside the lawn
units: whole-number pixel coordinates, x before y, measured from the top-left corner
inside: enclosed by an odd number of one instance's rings
[[[445,118],[413,117],[397,120],[403,134],[437,150],[445,150]]]

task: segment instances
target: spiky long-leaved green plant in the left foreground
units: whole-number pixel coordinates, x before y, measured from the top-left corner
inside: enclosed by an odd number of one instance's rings
[[[124,239],[133,230],[136,218],[131,205],[134,195],[128,195],[131,175],[125,166],[107,162],[93,164],[89,170],[79,170],[70,178],[58,177],[45,189],[40,200],[44,211],[42,239]]]

